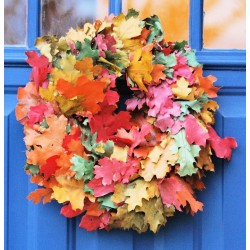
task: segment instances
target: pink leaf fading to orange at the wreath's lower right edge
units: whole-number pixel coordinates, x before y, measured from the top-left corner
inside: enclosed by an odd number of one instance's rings
[[[182,211],[181,206],[185,207],[188,202],[192,214],[196,213],[198,210],[203,210],[203,204],[194,198],[194,191],[190,184],[177,175],[171,175],[163,181],[160,181],[158,187],[162,202],[167,207],[174,205],[177,210]]]

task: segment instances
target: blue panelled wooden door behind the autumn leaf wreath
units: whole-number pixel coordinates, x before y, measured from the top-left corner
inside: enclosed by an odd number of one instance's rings
[[[11,2],[15,2],[15,7],[11,7]],[[17,88],[27,83],[30,74],[24,52],[34,49],[35,38],[44,28],[40,27],[44,18],[41,2],[53,1],[5,0],[6,18],[11,8],[15,8],[13,13],[19,13],[20,18],[12,23],[13,37],[5,41],[5,249],[245,249],[245,50],[203,48],[205,5],[202,0],[187,1],[189,43],[196,49],[199,62],[204,64],[205,74],[215,75],[217,85],[223,86],[217,99],[220,109],[216,130],[221,136],[235,137],[238,142],[232,160],[217,160],[216,172],[205,179],[207,188],[198,194],[204,203],[204,212],[194,217],[180,213],[155,235],[119,230],[86,232],[78,227],[79,219],[66,219],[59,214],[60,205],[53,202],[46,206],[34,205],[26,199],[35,186],[29,183],[23,168],[25,145],[22,126],[15,118],[15,105]],[[85,2],[86,6],[92,4],[91,8],[97,9],[99,4],[108,1]],[[122,2],[125,1],[110,0],[109,12],[118,14]],[[25,24],[23,30],[18,22]],[[16,33],[15,29],[18,29]],[[11,31],[5,27],[5,32]]]

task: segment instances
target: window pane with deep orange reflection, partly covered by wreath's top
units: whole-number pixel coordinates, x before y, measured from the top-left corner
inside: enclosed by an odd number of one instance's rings
[[[188,40],[189,0],[125,0],[123,12],[133,8],[140,17],[157,15],[162,23],[166,41]]]

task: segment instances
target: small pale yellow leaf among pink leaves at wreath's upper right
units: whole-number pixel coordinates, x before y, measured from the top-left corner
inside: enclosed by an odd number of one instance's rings
[[[188,87],[189,82],[181,77],[176,82],[177,87],[172,88],[173,93],[177,99],[194,100],[194,96],[191,95],[192,88]]]

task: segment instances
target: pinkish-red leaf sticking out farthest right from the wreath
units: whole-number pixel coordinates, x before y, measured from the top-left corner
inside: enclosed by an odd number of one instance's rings
[[[216,131],[212,127],[208,127],[210,145],[214,150],[215,154],[219,158],[231,159],[232,149],[236,148],[237,142],[234,138],[225,137],[221,138],[218,136]]]

